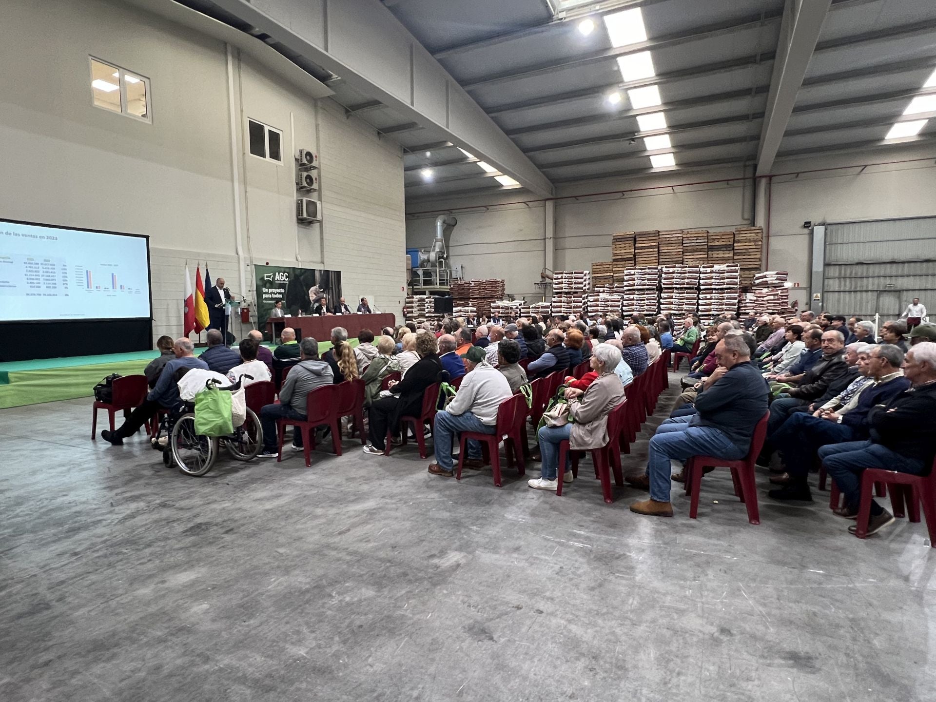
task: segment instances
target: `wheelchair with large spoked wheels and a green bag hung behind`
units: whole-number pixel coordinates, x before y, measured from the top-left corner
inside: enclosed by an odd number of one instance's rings
[[[253,379],[250,375],[243,377]],[[218,389],[236,392],[241,381]],[[195,402],[182,402],[163,417],[152,444],[162,451],[164,465],[175,463],[184,475],[200,477],[212,470],[222,444],[236,461],[254,459],[263,446],[263,429],[260,419],[247,407],[243,424],[227,436],[203,436],[195,431]]]

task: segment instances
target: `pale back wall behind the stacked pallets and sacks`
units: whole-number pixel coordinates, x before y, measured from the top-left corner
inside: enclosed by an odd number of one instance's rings
[[[800,309],[809,307],[811,292],[812,238],[809,231],[802,228],[803,222],[936,214],[933,159],[936,159],[936,147],[909,144],[861,154],[831,154],[775,164],[774,172],[778,175],[771,180],[768,191],[770,222],[766,263],[770,270],[790,271],[790,280],[799,283],[800,288],[791,290],[790,298],[799,301]],[[907,162],[866,166],[894,161]],[[837,167],[844,168],[802,172]],[[594,261],[610,260],[611,236],[617,231],[690,227],[716,231],[748,224],[753,219],[750,175],[751,168],[746,172],[741,167],[708,168],[565,186],[558,193],[561,199],[556,201],[555,207],[554,269],[588,269]],[[738,178],[742,180],[720,180]],[[586,195],[619,190],[633,192],[623,196],[619,193]],[[467,277],[504,277],[507,292],[522,296],[534,289],[543,265],[543,201],[524,191],[501,193],[498,197],[500,199],[465,197],[413,203],[407,215],[407,246],[428,245],[434,216],[438,212],[454,212],[459,226],[452,234],[453,263],[462,264]],[[498,204],[522,200],[526,203]],[[768,228],[766,222],[758,224]],[[522,241],[515,243],[517,240]],[[499,241],[512,243],[497,243]],[[509,261],[495,262],[501,257],[496,256],[497,253],[508,251],[516,252],[509,256]]]

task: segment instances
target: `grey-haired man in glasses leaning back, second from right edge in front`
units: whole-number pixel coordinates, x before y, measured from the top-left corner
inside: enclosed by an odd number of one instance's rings
[[[903,352],[896,346],[866,345],[859,353],[861,378],[812,414],[797,412],[783,422],[772,441],[780,447],[786,473],[771,477],[770,482],[784,487],[770,490],[770,497],[812,500],[807,478],[816,450],[826,444],[868,438],[871,408],[890,402],[910,387],[900,370],[902,363]]]

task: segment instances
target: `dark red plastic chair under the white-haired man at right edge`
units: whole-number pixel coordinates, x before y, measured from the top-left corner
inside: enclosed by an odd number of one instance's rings
[[[833,485],[835,481],[832,481]],[[861,474],[861,502],[858,505],[855,535],[868,537],[868,519],[871,513],[871,489],[886,485],[890,491],[890,504],[895,517],[903,517],[904,506],[911,521],[920,520],[920,503],[927,519],[929,546],[936,548],[936,461],[929,475],[911,475],[882,468],[866,468]]]

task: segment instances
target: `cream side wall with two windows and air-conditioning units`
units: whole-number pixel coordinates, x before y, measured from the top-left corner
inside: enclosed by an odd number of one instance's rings
[[[107,0],[0,0],[0,16],[0,216],[149,235],[154,336],[180,334],[186,262],[240,287],[225,44]],[[89,55],[150,78],[153,124],[92,105]],[[366,293],[399,313],[399,146],[236,50],[234,81],[237,291],[253,300],[251,263],[327,268],[342,271],[349,300]],[[246,117],[283,130],[284,165],[247,153]],[[312,227],[295,219],[300,148],[321,159],[323,222]]]

